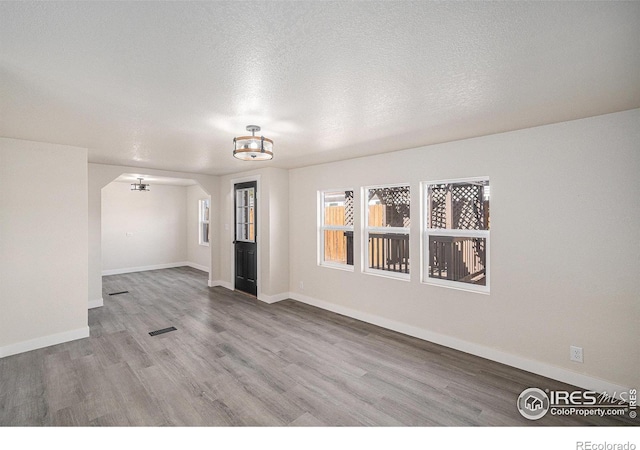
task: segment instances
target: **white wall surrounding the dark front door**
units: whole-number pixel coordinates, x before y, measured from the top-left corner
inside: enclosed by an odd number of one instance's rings
[[[233,183],[250,179],[258,179],[258,299],[283,300],[289,290],[289,174],[283,169],[265,168],[220,178],[220,279],[216,284],[234,285]]]

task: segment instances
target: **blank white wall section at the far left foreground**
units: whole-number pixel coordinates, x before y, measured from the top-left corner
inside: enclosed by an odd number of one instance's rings
[[[87,337],[87,150],[0,138],[0,357]]]

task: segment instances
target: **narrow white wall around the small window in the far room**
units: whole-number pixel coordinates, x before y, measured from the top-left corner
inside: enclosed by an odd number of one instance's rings
[[[209,247],[200,245],[200,200],[208,199],[209,195],[197,184],[187,187],[187,260],[193,267],[209,271],[211,266],[211,252]],[[216,220],[217,211],[210,210],[209,228],[211,240],[214,239],[213,223]],[[213,223],[211,223],[213,222]]]

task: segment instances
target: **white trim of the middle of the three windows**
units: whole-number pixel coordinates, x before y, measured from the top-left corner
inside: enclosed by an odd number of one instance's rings
[[[411,267],[409,273],[392,272],[390,270],[373,269],[369,267],[369,233],[397,233],[406,234],[411,240],[411,227],[370,227],[369,226],[369,189],[393,188],[409,186],[411,192],[411,183],[393,183],[393,184],[376,184],[372,186],[364,186],[361,191],[362,197],[362,263],[361,271],[367,275],[373,275],[383,278],[391,278],[394,280],[411,281]],[[411,210],[411,205],[409,205]],[[411,246],[409,246],[409,249]],[[411,258],[411,255],[409,255]]]

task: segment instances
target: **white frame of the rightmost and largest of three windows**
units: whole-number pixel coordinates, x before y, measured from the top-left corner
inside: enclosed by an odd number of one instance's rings
[[[477,181],[486,181],[491,189],[490,177],[468,177],[468,178],[451,178],[445,180],[423,181],[421,182],[421,206],[423,210],[421,221],[421,282],[431,286],[441,286],[450,289],[458,289],[462,291],[476,292],[480,294],[489,294],[491,292],[491,229],[488,230],[465,230],[454,228],[429,228],[429,218],[431,216],[431,203],[429,202],[429,187],[438,184],[456,184],[471,183]],[[491,191],[490,191],[491,192]],[[491,193],[489,194],[489,205],[491,205]],[[491,214],[491,212],[489,212]],[[471,237],[485,239],[485,285],[465,283],[463,281],[443,280],[432,278],[429,276],[429,236],[445,236],[445,237]]]

